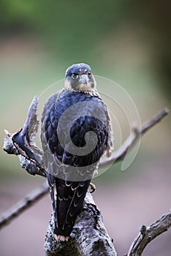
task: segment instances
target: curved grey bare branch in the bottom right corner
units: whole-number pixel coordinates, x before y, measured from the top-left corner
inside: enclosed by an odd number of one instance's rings
[[[148,227],[142,225],[140,233],[134,239],[127,256],[141,256],[145,247],[161,233],[164,233],[171,227],[171,210],[164,214],[160,219]]]

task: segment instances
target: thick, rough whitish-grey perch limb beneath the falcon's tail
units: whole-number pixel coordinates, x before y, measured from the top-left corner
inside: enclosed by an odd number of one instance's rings
[[[102,214],[87,193],[83,208],[77,217],[69,241],[58,243],[53,236],[54,219],[50,219],[45,238],[46,256],[115,256],[113,239],[107,234]]]

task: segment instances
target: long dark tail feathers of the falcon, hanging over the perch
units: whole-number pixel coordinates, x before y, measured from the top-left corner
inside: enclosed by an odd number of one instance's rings
[[[75,225],[75,220],[83,205],[90,180],[73,181],[66,185],[66,181],[56,179],[56,200],[53,211],[55,213],[56,227],[54,233],[56,240],[61,236],[68,237]],[[53,193],[54,197],[54,193]],[[57,240],[57,241],[58,241]]]

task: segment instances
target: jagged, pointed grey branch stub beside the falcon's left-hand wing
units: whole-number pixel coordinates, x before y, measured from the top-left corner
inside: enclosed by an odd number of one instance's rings
[[[23,128],[13,134],[4,130],[7,137],[4,138],[3,149],[8,154],[17,155],[20,159],[21,167],[29,174],[46,177],[43,153],[35,144],[35,136],[39,127],[37,106],[38,98],[35,96],[31,102]]]

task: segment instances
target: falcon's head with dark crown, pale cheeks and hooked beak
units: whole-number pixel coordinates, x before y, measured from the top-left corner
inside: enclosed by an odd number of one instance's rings
[[[73,64],[66,69],[65,87],[74,91],[94,94],[96,92],[96,80],[91,73],[91,67],[87,64]]]

